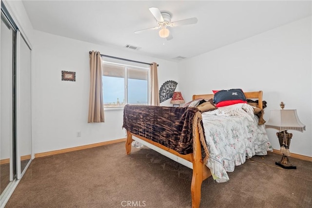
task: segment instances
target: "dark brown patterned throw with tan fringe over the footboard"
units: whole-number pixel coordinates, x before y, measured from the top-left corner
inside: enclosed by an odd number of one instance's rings
[[[193,153],[193,134],[198,128],[204,163],[208,159],[201,112],[196,107],[127,104],[123,110],[122,127],[182,155]]]

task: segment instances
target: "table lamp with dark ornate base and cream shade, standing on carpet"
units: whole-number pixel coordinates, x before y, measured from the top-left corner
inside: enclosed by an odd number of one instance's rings
[[[285,169],[296,169],[296,166],[292,166],[288,156],[290,156],[289,146],[291,144],[292,133],[288,133],[287,130],[301,131],[306,130],[306,126],[302,124],[298,118],[297,110],[284,109],[285,104],[281,102],[281,110],[271,110],[269,121],[266,123],[266,128],[275,128],[279,130],[276,133],[281,146],[282,159],[275,162],[275,165],[281,166]]]

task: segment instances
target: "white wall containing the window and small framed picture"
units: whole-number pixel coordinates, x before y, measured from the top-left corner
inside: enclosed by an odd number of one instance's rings
[[[121,128],[122,110],[105,111],[105,123],[87,123],[91,50],[140,62],[157,62],[159,87],[167,80],[178,82],[176,62],[136,55],[133,51],[128,52],[129,49],[117,50],[36,30],[33,36],[35,153],[125,138],[125,130]],[[76,82],[61,81],[62,70],[76,72]],[[81,137],[76,136],[77,131],[81,131]]]

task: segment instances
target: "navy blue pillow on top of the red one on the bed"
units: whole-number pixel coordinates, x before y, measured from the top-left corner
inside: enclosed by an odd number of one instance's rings
[[[222,101],[241,100],[246,102],[246,97],[242,89],[220,90],[215,93],[214,103],[218,104]]]

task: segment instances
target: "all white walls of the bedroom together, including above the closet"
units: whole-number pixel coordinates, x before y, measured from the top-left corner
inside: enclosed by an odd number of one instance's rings
[[[176,90],[182,91],[186,102],[193,94],[211,93],[213,89],[263,90],[263,98],[268,102],[266,120],[270,109],[278,109],[281,101],[286,103],[286,108],[297,109],[307,130],[290,131],[293,133],[291,152],[312,156],[311,17],[177,64],[34,31],[21,1],[8,2],[33,44],[35,153],[125,136],[121,129],[122,111],[105,111],[104,124],[86,123],[88,52],[98,50],[111,56],[159,63],[159,87],[167,80],[175,80]],[[61,70],[76,71],[77,81],[60,81]],[[169,100],[162,105],[170,105]],[[81,137],[76,137],[78,130]],[[273,147],[278,149],[276,130],[267,129],[267,132]]]

